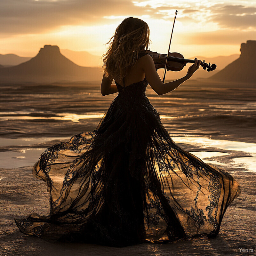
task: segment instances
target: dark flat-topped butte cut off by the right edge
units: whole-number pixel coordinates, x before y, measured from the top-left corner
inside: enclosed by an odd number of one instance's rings
[[[248,40],[241,44],[240,57],[228,64],[217,74],[210,77],[212,80],[224,82],[256,83],[256,41]]]

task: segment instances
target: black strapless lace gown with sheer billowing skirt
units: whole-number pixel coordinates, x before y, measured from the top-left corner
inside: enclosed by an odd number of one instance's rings
[[[146,97],[122,87],[92,132],[47,148],[33,175],[47,183],[50,214],[15,222],[47,241],[127,246],[216,236],[240,194],[225,170],[178,147]]]

